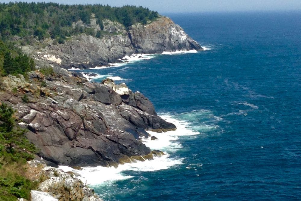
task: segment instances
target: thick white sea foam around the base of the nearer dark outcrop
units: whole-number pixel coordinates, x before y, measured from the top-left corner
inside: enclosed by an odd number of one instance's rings
[[[105,185],[108,182],[116,180],[125,180],[133,176],[126,175],[124,171],[157,171],[170,168],[174,165],[182,164],[183,158],[171,158],[168,153],[175,152],[177,149],[182,148],[182,145],[175,140],[180,136],[197,135],[199,132],[189,130],[186,128],[187,123],[185,121],[179,121],[171,118],[170,115],[161,116],[166,121],[169,121],[177,126],[177,130],[168,131],[166,133],[155,133],[148,131],[152,136],[157,137],[157,140],[151,140],[149,138],[143,139],[144,143],[151,149],[159,149],[166,151],[165,155],[161,157],[154,157],[154,160],[146,160],[144,162],[134,160],[133,163],[126,163],[114,167],[87,167],[82,170],[75,170],[68,166],[60,166],[64,171],[72,171],[76,173],[82,182],[87,182],[91,186]]]

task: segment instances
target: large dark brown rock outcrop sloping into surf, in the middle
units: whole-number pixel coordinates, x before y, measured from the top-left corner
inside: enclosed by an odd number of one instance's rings
[[[90,83],[76,73],[54,71],[51,76],[30,72],[29,80],[4,77],[0,92],[0,101],[16,109],[20,126],[29,130],[27,138],[49,162],[117,166],[131,157],[152,158],[151,149],[140,140],[148,136],[145,130],[176,128],[125,84]]]

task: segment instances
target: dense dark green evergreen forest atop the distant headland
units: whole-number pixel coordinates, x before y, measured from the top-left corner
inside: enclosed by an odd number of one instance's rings
[[[73,22],[82,20],[90,24],[92,14],[103,30],[103,19],[117,21],[125,27],[135,23],[146,24],[158,17],[148,8],[136,6],[111,7],[109,5],[60,5],[57,3],[0,3],[0,39],[7,41],[20,36],[25,44],[36,38],[58,38],[59,43],[72,34],[86,33],[95,36],[95,31],[85,27],[73,27]]]

